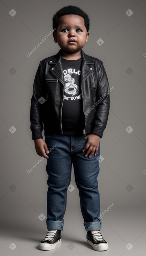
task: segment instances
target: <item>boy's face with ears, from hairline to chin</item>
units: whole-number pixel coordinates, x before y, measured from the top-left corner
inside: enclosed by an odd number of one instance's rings
[[[53,36],[61,50],[71,54],[79,52],[88,42],[89,32],[84,25],[84,18],[71,14],[59,18],[59,26]]]

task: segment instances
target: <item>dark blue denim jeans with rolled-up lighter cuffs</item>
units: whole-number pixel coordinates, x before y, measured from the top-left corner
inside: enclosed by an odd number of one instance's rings
[[[72,135],[49,134],[45,137],[49,150],[46,171],[47,229],[63,230],[64,214],[67,206],[67,189],[71,180],[71,167],[74,166],[75,182],[79,190],[80,209],[85,231],[101,229],[100,201],[97,176],[99,174],[100,143],[96,156],[85,157],[82,152],[87,138]]]

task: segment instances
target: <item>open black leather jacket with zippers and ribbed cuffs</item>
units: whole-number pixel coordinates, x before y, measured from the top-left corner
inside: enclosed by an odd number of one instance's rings
[[[31,98],[32,140],[50,133],[62,134],[62,106],[64,96],[61,50],[39,63]],[[109,83],[101,60],[86,55],[83,50],[80,86],[82,90],[85,128],[83,134],[97,134],[102,138],[109,114]]]

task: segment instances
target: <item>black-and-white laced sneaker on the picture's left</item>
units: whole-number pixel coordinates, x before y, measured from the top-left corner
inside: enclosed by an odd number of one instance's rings
[[[57,244],[60,244],[62,240],[61,230],[49,230],[46,234],[46,237],[40,242],[40,250],[53,250]]]

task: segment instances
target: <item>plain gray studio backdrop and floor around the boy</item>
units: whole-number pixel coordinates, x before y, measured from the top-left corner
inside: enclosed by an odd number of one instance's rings
[[[109,250],[101,255],[144,255],[146,180],[146,1],[2,0],[0,255],[44,255],[38,250],[46,229],[46,159],[30,130],[30,100],[39,61],[56,54],[52,16],[66,5],[90,16],[89,42],[83,50],[103,61],[109,80],[110,112],[101,139],[98,176],[102,234]],[[49,36],[47,36],[49,35]],[[46,38],[44,38],[46,37]],[[44,38],[44,42],[30,53]],[[27,55],[28,54],[28,55]],[[74,170],[67,191],[62,244],[50,255],[97,255],[86,244]]]

